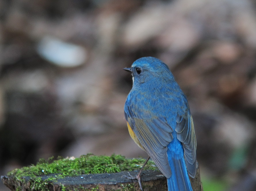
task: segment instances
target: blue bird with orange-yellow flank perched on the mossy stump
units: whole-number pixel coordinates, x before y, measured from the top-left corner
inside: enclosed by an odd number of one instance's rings
[[[196,174],[196,136],[185,94],[157,58],[142,57],[123,69],[131,72],[133,81],[124,106],[131,138],[167,178],[168,191],[192,190],[189,176]],[[140,190],[142,168],[130,177],[139,181]]]

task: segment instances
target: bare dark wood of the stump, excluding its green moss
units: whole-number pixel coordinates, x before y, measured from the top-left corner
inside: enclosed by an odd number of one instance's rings
[[[129,172],[132,176],[135,176],[138,172]],[[76,177],[65,177],[49,181],[46,190],[140,190],[138,182],[136,180],[129,180],[122,178],[123,175],[128,175],[127,171],[118,173],[103,173],[103,174],[83,174]],[[52,176],[52,175],[51,175]],[[49,176],[41,176],[42,180],[47,179]],[[23,177],[25,181],[17,181],[15,176],[1,176],[1,180],[10,190],[36,190],[31,188],[31,185],[35,182],[30,181],[30,177]],[[142,187],[144,191],[164,191],[167,190],[166,178],[159,171],[144,170],[142,171]],[[192,189],[194,191],[202,191],[202,184],[200,180],[199,168],[196,171],[196,177],[190,178]],[[37,189],[38,190],[38,189]]]

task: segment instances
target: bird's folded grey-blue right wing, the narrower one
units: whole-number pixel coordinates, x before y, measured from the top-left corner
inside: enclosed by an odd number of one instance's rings
[[[196,135],[192,116],[178,115],[176,118],[177,138],[182,142],[188,174],[194,178],[196,175]]]

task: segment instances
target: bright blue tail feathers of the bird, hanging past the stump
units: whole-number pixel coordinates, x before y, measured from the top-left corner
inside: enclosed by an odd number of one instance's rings
[[[168,191],[192,191],[184,158],[169,160],[172,175],[167,178]]]

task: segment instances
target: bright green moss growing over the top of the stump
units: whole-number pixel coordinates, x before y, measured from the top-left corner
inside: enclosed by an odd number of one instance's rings
[[[61,158],[53,160],[40,159],[36,165],[14,169],[7,175],[15,177],[16,181],[25,184],[25,177],[30,177],[31,190],[47,190],[48,184],[66,176],[79,176],[81,174],[116,173],[121,171],[139,170],[145,159],[126,159],[121,155],[95,156],[93,154],[82,155],[79,158]],[[148,161],[145,170],[156,170],[154,162]],[[42,177],[47,175],[46,179]],[[18,190],[18,188],[17,188]],[[61,190],[65,186],[61,185]]]

